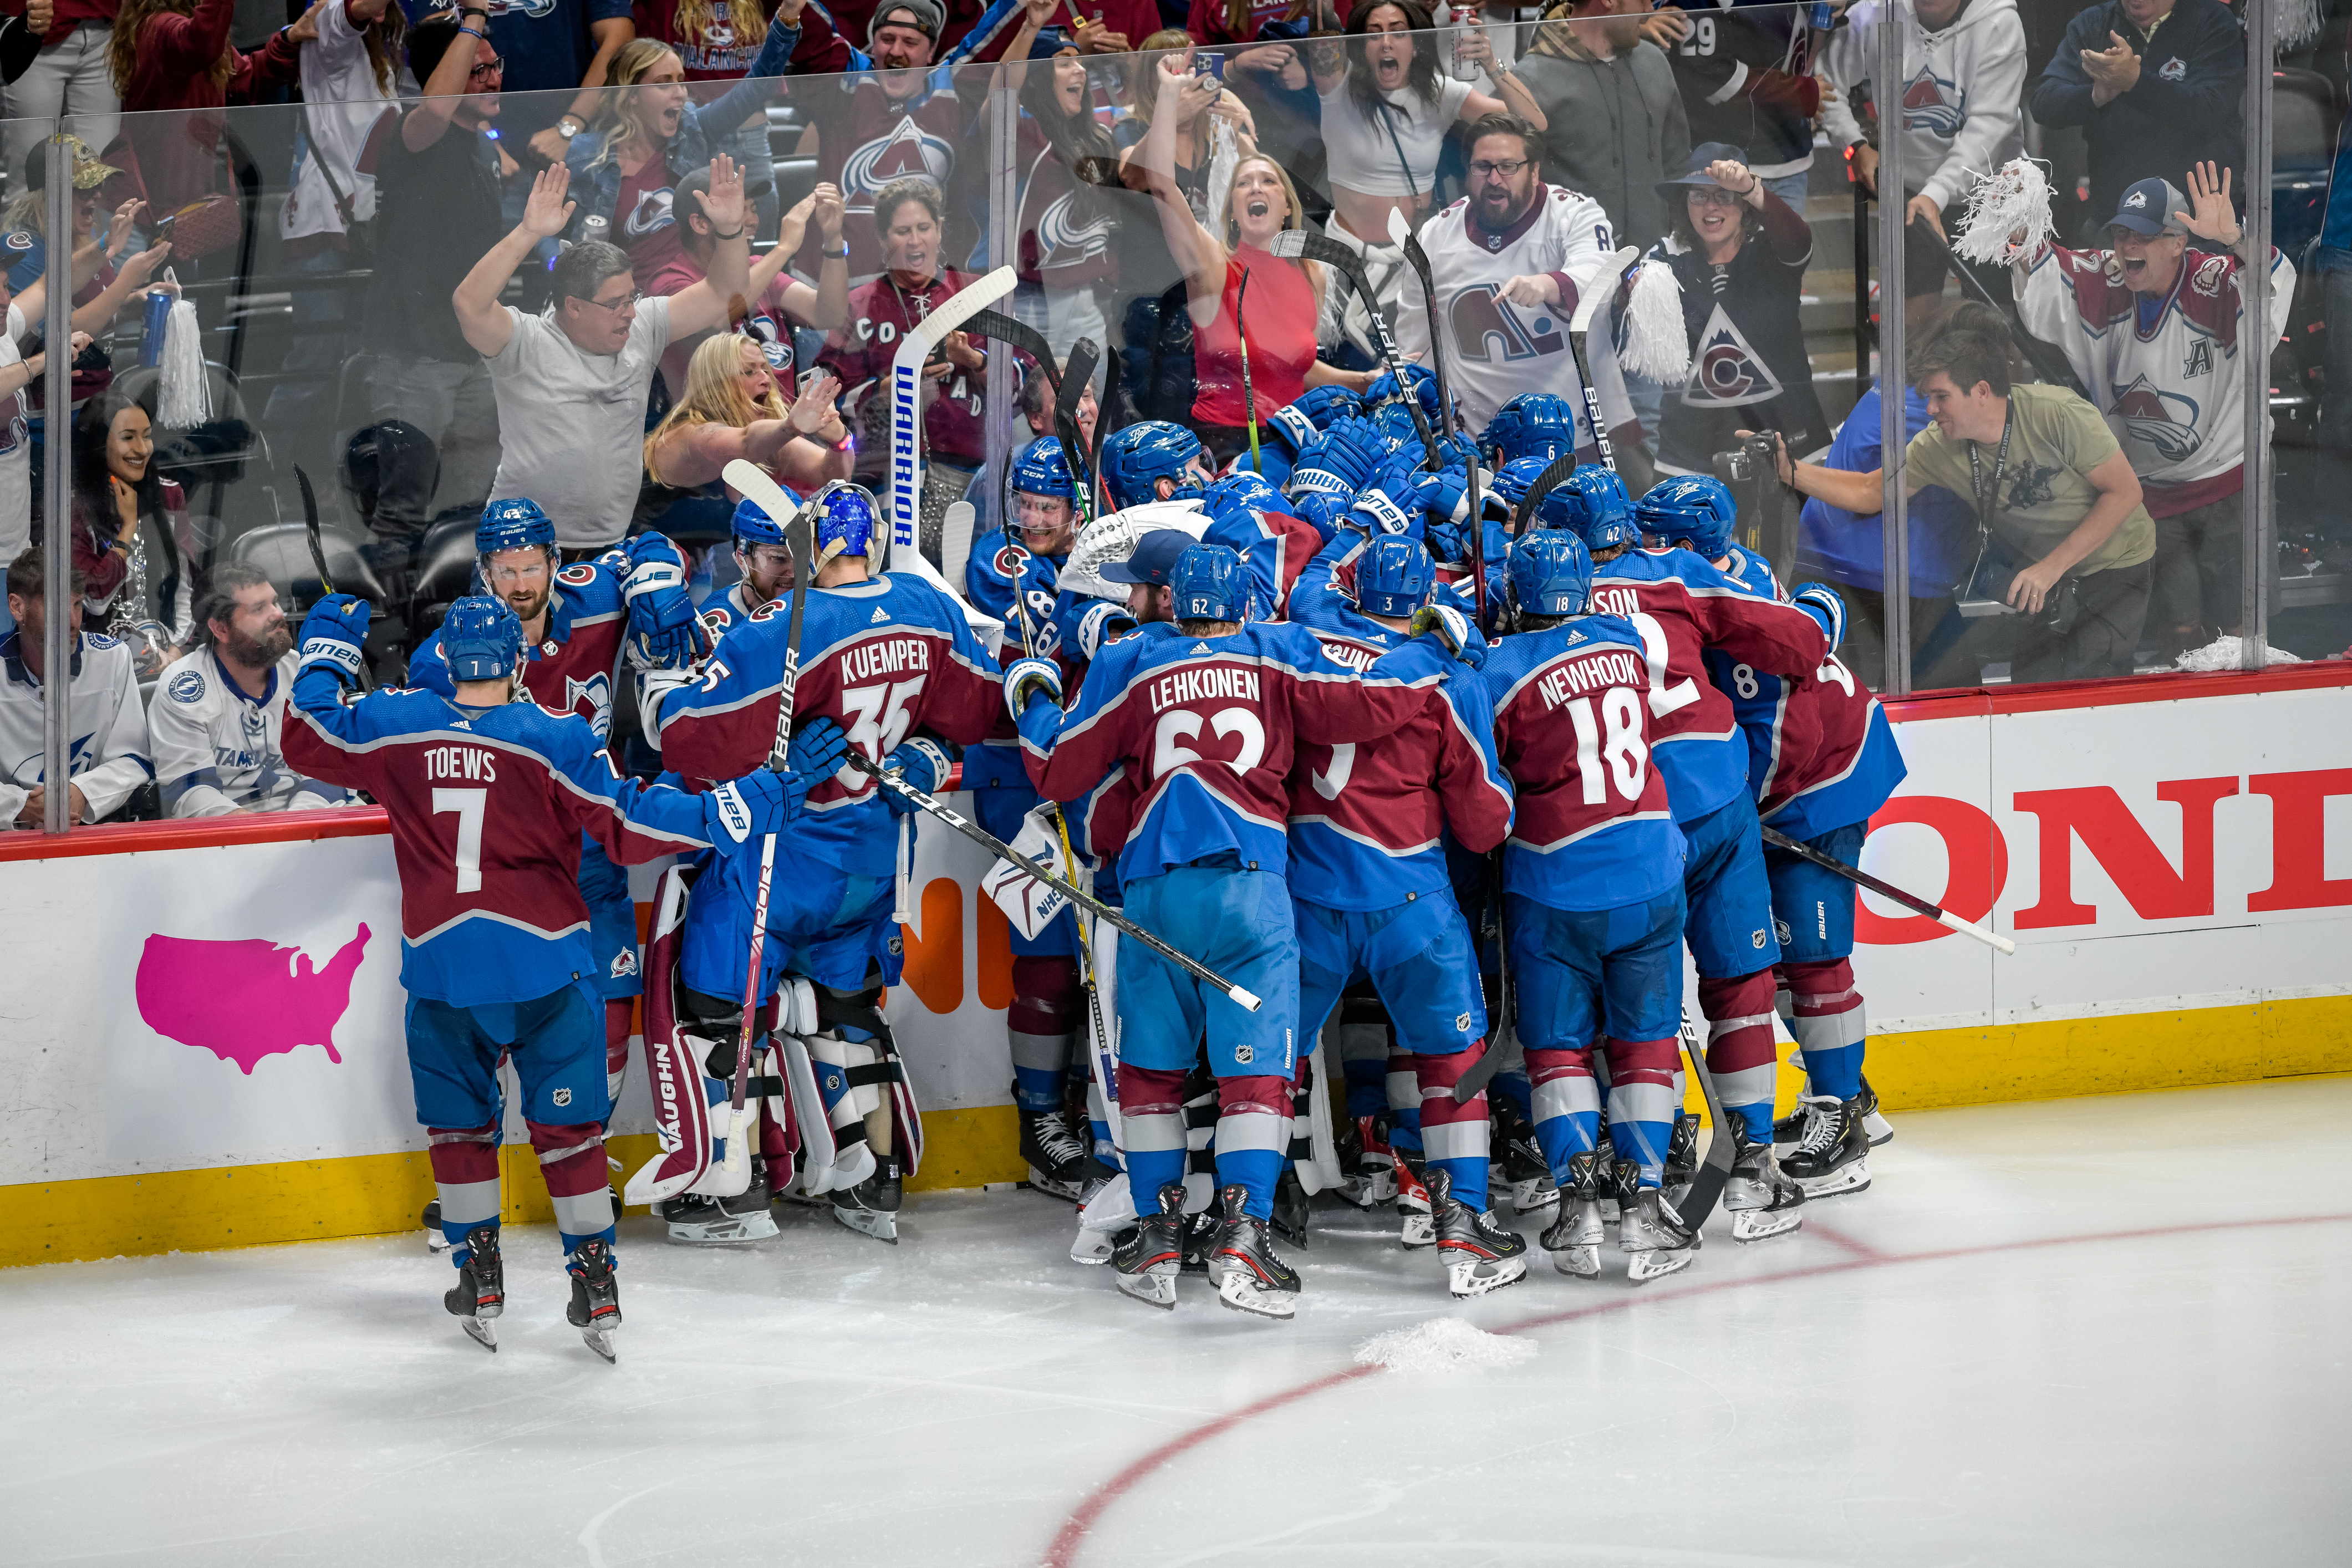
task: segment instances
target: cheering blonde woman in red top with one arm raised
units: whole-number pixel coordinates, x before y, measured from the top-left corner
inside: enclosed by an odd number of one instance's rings
[[[1209,233],[1176,186],[1176,122],[1188,92],[1214,92],[1216,82],[1160,61],[1160,108],[1143,150],[1134,160],[1150,183],[1160,230],[1185,275],[1192,313],[1192,430],[1223,465],[1249,451],[1251,407],[1242,397],[1242,327],[1249,329],[1249,390],[1256,423],[1294,402],[1310,386],[1345,386],[1362,393],[1371,371],[1343,371],[1315,357],[1315,320],[1327,277],[1315,261],[1284,261],[1265,244],[1284,228],[1301,228],[1298,190],[1265,153],[1244,150],[1225,195],[1223,233]],[[1242,280],[1249,296],[1242,301]]]

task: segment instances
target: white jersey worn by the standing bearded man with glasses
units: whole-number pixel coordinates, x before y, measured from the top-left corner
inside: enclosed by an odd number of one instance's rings
[[[1430,280],[1437,284],[1446,381],[1461,397],[1470,428],[1484,430],[1494,411],[1519,393],[1552,393],[1576,409],[1576,444],[1595,444],[1569,348],[1569,317],[1576,315],[1583,282],[1616,252],[1616,230],[1602,205],[1576,190],[1536,186],[1526,214],[1505,233],[1489,235],[1470,221],[1470,200],[1463,197],[1421,226],[1421,249],[1430,256]],[[1557,310],[1529,310],[1503,299],[1505,282],[1531,273],[1559,280]],[[1632,435],[1632,402],[1611,350],[1613,336],[1616,310],[1604,306],[1592,317],[1585,353],[1592,357],[1609,435],[1623,440],[1618,430]],[[1428,362],[1430,313],[1411,268],[1404,270],[1397,306],[1397,348]]]

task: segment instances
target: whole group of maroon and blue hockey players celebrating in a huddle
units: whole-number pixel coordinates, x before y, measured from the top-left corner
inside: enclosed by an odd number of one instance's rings
[[[776,1234],[786,1197],[896,1239],[922,1124],[882,994],[922,816],[1009,846],[1021,1157],[1141,1302],[1197,1274],[1291,1316],[1275,1241],[1317,1192],[1392,1206],[1468,1298],[1526,1274],[1505,1201],[1571,1279],[1613,1225],[1642,1284],[1717,1199],[1757,1241],[1867,1187],[1853,884],[1764,842],[1851,865],[1903,778],[1844,607],[1743,552],[1717,480],[1630,498],[1576,465],[1559,397],[1430,428],[1406,367],[1305,393],[1223,477],[1174,423],[1110,433],[1098,473],[1033,440],[955,588],[889,559],[856,484],[739,487],[741,581],[701,607],[663,536],[562,567],[539,505],[494,501],[482,592],[405,689],[358,689],[367,604],[320,599],[285,755],[390,813],[463,1328],[496,1347],[510,1060],[569,1321],[612,1356],[640,987],[661,1157],[628,1201],[677,1241]],[[659,783],[602,750],[619,679]],[[640,976],[619,867],[661,856]],[[1776,1013],[1806,1074],[1778,1126]]]

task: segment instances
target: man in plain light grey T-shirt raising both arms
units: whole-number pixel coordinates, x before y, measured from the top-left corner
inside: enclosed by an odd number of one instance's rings
[[[717,240],[703,282],[640,306],[628,254],[583,240],[557,256],[546,315],[501,306],[499,294],[522,259],[572,223],[567,186],[564,169],[532,181],[522,223],[466,273],[452,303],[466,341],[489,357],[499,393],[503,449],[492,501],[536,498],[555,520],[557,545],[581,557],[628,534],[644,461],[644,400],[661,350],[677,331],[722,327],[729,301],[750,296],[750,240],[743,176],[720,155],[701,197]]]

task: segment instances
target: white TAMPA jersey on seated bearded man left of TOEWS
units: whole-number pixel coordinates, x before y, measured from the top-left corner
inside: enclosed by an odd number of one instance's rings
[[[195,649],[162,672],[148,736],[165,816],[313,811],[350,799],[341,785],[287,769],[278,733],[294,689],[294,654],[278,661],[261,701],[221,670],[212,649]]]

